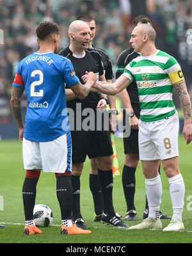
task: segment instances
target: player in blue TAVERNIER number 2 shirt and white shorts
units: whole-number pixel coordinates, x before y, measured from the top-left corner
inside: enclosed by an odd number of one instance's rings
[[[19,129],[26,178],[22,188],[26,226],[24,234],[41,234],[35,226],[36,184],[40,171],[56,174],[56,193],[61,209],[61,234],[90,234],[72,224],[71,139],[65,100],[65,84],[84,99],[96,76],[86,84],[79,82],[70,60],[55,52],[60,43],[60,29],[54,22],[41,22],[36,28],[39,51],[20,61],[12,86],[11,106]],[[20,97],[26,91],[28,105],[22,121]]]

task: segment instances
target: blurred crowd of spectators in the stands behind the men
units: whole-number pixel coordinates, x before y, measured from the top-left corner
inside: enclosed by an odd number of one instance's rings
[[[96,20],[94,45],[107,52],[114,75],[118,55],[130,46],[132,20],[147,15],[157,32],[157,48],[179,61],[192,99],[191,0],[0,0],[0,32],[4,34],[4,44],[0,44],[0,125],[14,122],[11,85],[19,61],[38,50],[37,24],[44,20],[57,22],[63,49],[69,43],[68,25],[81,14]],[[175,102],[179,108],[179,101]],[[22,106],[26,106],[26,99]]]

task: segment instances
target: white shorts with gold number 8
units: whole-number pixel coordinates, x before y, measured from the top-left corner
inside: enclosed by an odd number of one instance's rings
[[[139,154],[141,160],[169,159],[179,156],[179,117],[145,123],[139,120]]]

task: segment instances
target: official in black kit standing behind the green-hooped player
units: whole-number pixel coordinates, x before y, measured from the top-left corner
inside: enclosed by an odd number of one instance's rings
[[[139,15],[133,20],[134,26],[138,24],[150,24],[152,22],[145,15]],[[138,57],[139,53],[134,52],[132,47],[125,49],[120,53],[116,61],[116,79],[122,75],[124,68],[134,58]],[[122,172],[122,184],[124,188],[125,201],[127,204],[127,213],[125,220],[137,220],[136,209],[134,207],[134,192],[135,192],[135,172],[139,161],[139,147],[138,147],[138,119],[140,118],[140,101],[138,97],[138,87],[135,81],[132,81],[130,86],[127,86],[122,92],[118,93],[120,100],[126,109],[131,109],[131,134],[129,137],[124,138],[124,153],[125,164]],[[125,118],[125,111],[124,111]],[[159,166],[160,173],[160,166]],[[143,219],[148,217],[148,201],[146,196],[145,209],[143,211]],[[161,219],[171,219],[170,216],[164,215],[160,211]]]

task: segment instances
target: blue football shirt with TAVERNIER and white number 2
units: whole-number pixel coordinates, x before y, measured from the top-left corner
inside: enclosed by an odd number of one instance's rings
[[[78,81],[70,60],[52,52],[35,52],[20,61],[12,85],[26,91],[26,140],[51,141],[70,131],[65,83],[70,87]]]

